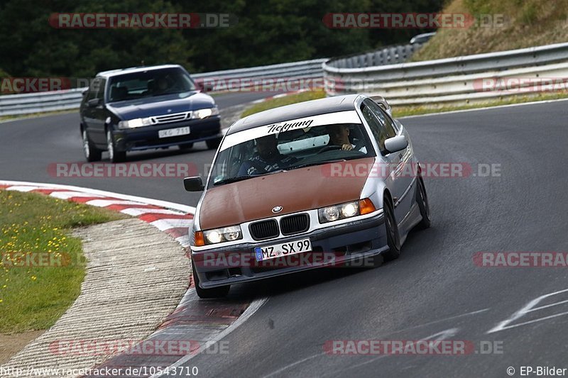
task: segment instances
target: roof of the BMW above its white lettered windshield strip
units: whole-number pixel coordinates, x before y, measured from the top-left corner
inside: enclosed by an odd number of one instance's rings
[[[354,110],[354,101],[358,94],[347,94],[345,96],[333,96],[325,99],[317,99],[297,104],[280,106],[278,108],[254,113],[251,116],[239,119],[229,128],[227,134],[238,133],[249,128],[271,125],[290,121],[296,118],[317,116],[319,114],[335,113],[337,111]]]

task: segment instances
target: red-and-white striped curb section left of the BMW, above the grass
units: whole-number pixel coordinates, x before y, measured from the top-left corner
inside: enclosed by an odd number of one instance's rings
[[[119,211],[150,223],[158,230],[172,236],[183,248],[190,245],[188,230],[193,223],[195,213],[193,206],[60,184],[0,180],[0,189],[31,191],[57,199]]]

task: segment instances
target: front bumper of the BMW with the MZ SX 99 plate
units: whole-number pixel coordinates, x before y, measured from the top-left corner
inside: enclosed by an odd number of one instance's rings
[[[341,226],[260,243],[192,252],[192,267],[202,289],[240,284],[318,267],[369,267],[370,258],[386,252],[383,214]],[[312,252],[256,262],[254,248],[310,238]]]

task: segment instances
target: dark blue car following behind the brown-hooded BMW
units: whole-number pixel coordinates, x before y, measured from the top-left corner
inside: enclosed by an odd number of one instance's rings
[[[214,99],[202,93],[179,65],[135,67],[99,72],[80,106],[87,161],[124,161],[126,151],[204,141],[217,148],[221,119]]]

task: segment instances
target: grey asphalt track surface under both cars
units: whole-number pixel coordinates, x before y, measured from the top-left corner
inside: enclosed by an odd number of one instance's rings
[[[218,98],[219,106],[242,99]],[[247,99],[251,101],[251,99]],[[521,366],[568,368],[568,291],[548,296],[489,333],[528,302],[568,289],[562,267],[479,267],[481,251],[568,251],[568,102],[403,120],[423,162],[498,164],[500,177],[427,178],[432,228],[414,231],[395,262],[329,269],[231,289],[268,301],[226,336],[226,355],[185,365],[202,377],[508,377]],[[180,179],[60,179],[50,162],[82,162],[78,116],[0,124],[0,178],[75,184],[195,206]],[[130,161],[204,165],[197,146],[140,152]],[[474,171],[475,172],[475,171]],[[230,206],[230,204],[228,204]],[[467,340],[502,353],[328,355],[328,340]],[[495,343],[493,343],[495,342]],[[567,370],[568,372],[568,370]]]

